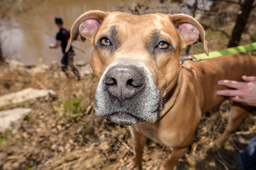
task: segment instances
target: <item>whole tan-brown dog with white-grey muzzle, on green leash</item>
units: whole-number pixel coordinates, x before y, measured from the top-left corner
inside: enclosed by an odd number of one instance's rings
[[[218,80],[256,75],[256,59],[246,54],[181,65],[180,51],[186,45],[200,40],[208,53],[201,24],[183,14],[89,11],[73,24],[69,45],[79,34],[95,47],[91,66],[100,79],[97,115],[132,125],[132,169],[142,164],[147,137],[174,148],[160,168],[173,169],[193,142],[202,113],[223,101],[216,96],[225,88],[217,85]],[[235,104],[213,147],[221,147],[249,113]]]

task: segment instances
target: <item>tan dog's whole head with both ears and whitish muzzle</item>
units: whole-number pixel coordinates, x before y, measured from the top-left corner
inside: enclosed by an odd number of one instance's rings
[[[181,72],[181,48],[201,39],[207,50],[201,25],[183,14],[89,11],[75,21],[70,39],[78,34],[95,47],[97,115],[124,125],[156,122]]]

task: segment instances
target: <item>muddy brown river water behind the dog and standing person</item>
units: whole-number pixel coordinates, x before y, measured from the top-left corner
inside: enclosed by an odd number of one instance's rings
[[[6,58],[19,60],[28,65],[60,63],[61,50],[48,48],[50,42],[55,43],[55,33],[58,32],[54,23],[55,16],[61,16],[64,27],[70,28],[73,21],[86,11],[98,9],[131,12],[138,3],[145,5],[140,8],[142,12],[178,12],[173,11],[174,8],[186,13],[186,11],[182,11],[170,3],[160,4],[159,0],[44,0],[32,9],[16,15],[21,20],[18,21],[12,17],[9,19],[11,26],[6,27],[1,33],[4,55]],[[150,8],[146,8],[146,6]],[[11,13],[11,11],[9,12]],[[90,42],[75,42],[74,45],[85,51],[75,50],[75,63],[86,64],[90,62],[92,55]]]

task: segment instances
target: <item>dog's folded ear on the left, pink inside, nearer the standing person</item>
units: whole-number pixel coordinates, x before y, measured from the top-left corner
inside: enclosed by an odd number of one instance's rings
[[[68,52],[71,43],[78,38],[78,35],[81,36],[82,41],[88,39],[92,42],[93,35],[97,32],[105,16],[107,16],[107,12],[93,10],[83,13],[78,17],[71,28],[70,39],[65,51]]]

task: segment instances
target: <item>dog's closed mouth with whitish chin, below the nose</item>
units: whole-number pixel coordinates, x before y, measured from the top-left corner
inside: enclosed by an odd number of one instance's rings
[[[136,116],[132,115],[131,113],[128,113],[126,111],[119,111],[116,113],[111,113],[110,115],[106,116],[110,120],[112,120],[114,123],[118,123],[121,125],[133,125],[138,123],[139,121],[142,121],[140,118],[137,118]]]

